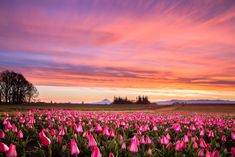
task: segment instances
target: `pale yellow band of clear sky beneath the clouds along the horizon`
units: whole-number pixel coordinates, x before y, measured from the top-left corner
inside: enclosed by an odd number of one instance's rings
[[[71,103],[94,103],[103,99],[113,100],[114,96],[125,97],[135,100],[137,96],[148,96],[151,102],[164,100],[230,100],[235,92],[205,90],[171,90],[171,89],[138,89],[138,88],[114,88],[114,87],[58,87],[37,86],[41,91],[40,100],[45,102],[71,102]],[[82,91],[82,92],[81,92]],[[53,97],[50,94],[53,93]],[[64,93],[69,93],[64,97]],[[49,96],[48,96],[49,95]]]

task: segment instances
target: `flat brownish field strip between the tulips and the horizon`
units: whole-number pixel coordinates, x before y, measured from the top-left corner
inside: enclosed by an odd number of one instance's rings
[[[234,113],[235,104],[204,104],[204,105],[156,105],[156,104],[1,104],[0,112],[27,111],[31,109],[69,109],[79,111],[112,111],[112,112],[159,112],[159,111],[191,111]]]

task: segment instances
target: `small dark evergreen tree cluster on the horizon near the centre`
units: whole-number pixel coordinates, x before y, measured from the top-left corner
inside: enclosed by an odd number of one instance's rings
[[[150,104],[147,96],[138,96],[136,101],[129,100],[127,97],[114,97],[112,104]]]

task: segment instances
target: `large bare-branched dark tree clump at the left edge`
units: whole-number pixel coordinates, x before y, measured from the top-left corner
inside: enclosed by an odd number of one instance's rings
[[[8,70],[0,73],[0,103],[30,103],[37,96],[36,87],[22,74]]]

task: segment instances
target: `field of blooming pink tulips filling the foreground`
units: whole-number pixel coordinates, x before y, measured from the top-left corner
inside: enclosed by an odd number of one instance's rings
[[[0,156],[235,157],[235,115],[30,110],[0,117]]]

